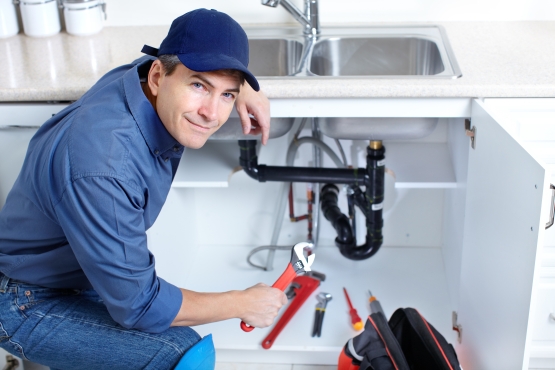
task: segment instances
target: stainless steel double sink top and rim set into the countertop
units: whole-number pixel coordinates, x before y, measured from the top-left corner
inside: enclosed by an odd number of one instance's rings
[[[264,78],[459,78],[440,26],[246,29],[249,69]]]

